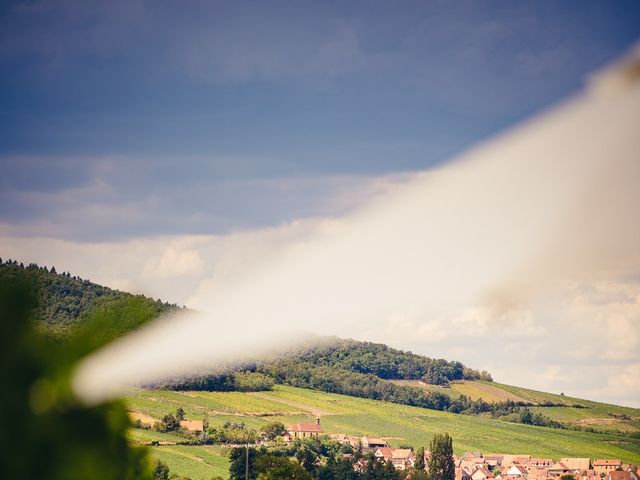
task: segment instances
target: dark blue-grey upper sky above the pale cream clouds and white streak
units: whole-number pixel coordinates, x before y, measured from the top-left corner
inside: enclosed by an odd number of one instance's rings
[[[353,179],[445,161],[640,33],[637,2],[0,8],[0,224],[79,241],[338,213]]]

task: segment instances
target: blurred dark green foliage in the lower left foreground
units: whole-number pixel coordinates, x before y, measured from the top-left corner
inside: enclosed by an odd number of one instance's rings
[[[151,479],[143,448],[127,441],[120,402],[85,406],[71,389],[74,364],[119,332],[101,329],[113,315],[144,307],[125,302],[97,312],[64,343],[37,334],[36,278],[0,276],[0,477],[11,479]],[[135,303],[135,302],[134,302]],[[126,320],[130,321],[130,320]]]

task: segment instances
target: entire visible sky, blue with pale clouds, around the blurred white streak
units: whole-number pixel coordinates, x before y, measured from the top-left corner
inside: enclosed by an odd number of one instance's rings
[[[622,1],[3,2],[0,256],[200,306],[221,278],[579,91],[639,38],[640,6]],[[515,347],[444,320],[388,343],[638,405],[635,273],[565,287],[553,315],[513,320],[530,327]],[[621,332],[619,353],[550,351],[572,316],[598,319],[589,350]]]

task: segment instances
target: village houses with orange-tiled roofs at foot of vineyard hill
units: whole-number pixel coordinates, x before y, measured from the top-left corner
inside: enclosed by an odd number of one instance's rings
[[[314,423],[289,425],[283,439],[319,438],[324,435],[320,419]],[[409,448],[392,448],[383,437],[354,436],[334,433],[329,438],[340,443],[361,447],[381,460],[391,462],[398,470],[415,465],[415,453]],[[429,452],[425,452],[425,465],[429,464]],[[640,480],[640,466],[625,464],[615,459],[536,458],[531,455],[490,454],[467,452],[454,456],[456,480],[559,480],[571,475],[576,480]]]

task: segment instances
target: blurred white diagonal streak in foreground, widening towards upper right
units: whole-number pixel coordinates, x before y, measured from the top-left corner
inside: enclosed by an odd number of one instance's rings
[[[201,292],[206,313],[97,352],[76,391],[98,402],[127,384],[258,358],[294,332],[371,338],[473,305],[505,317],[565,282],[637,274],[639,72],[636,50],[553,111]]]

